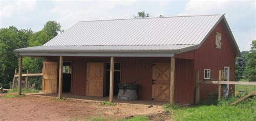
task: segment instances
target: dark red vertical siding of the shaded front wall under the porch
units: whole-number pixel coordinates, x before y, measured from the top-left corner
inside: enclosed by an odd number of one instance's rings
[[[57,57],[48,57],[49,61],[58,61]],[[132,83],[140,79],[139,99],[151,100],[152,93],[152,63],[168,62],[170,58],[139,58],[117,57],[116,62],[121,63],[121,82]],[[86,63],[109,62],[107,57],[64,57],[64,61],[72,61],[72,94],[86,94]],[[176,75],[174,100],[178,103],[193,102],[192,60],[176,59]],[[171,65],[171,63],[170,63]]]

